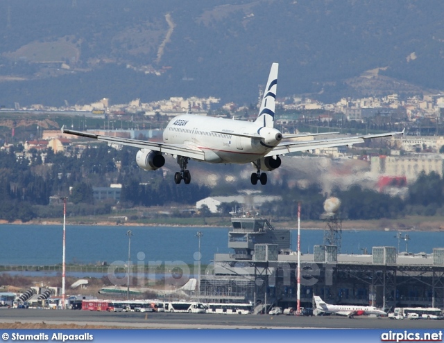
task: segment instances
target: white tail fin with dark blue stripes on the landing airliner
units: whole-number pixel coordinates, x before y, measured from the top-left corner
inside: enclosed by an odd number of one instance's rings
[[[270,75],[264,89],[261,107],[255,123],[266,127],[273,127],[275,121],[276,89],[278,88],[279,64],[271,64]]]

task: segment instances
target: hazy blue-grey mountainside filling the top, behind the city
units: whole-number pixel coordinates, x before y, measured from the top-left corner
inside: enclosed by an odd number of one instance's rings
[[[250,104],[271,62],[279,96],[444,89],[443,12],[438,0],[2,1],[0,105]]]

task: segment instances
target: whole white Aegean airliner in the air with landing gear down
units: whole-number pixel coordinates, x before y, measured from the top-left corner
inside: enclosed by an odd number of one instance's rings
[[[255,121],[236,121],[226,118],[183,114],[176,116],[169,122],[163,133],[163,143],[78,132],[67,130],[65,127],[62,127],[62,132],[139,148],[140,150],[136,155],[137,165],[145,170],[156,170],[162,167],[165,163],[163,155],[172,155],[177,158],[180,166],[180,172],[174,175],[176,184],[180,184],[182,179],[185,184],[189,184],[191,181],[191,174],[187,169],[190,159],[213,164],[246,164],[251,162],[257,170],[256,173],[251,174],[251,183],[257,184],[259,180],[261,184],[266,184],[267,175],[261,170],[271,171],[279,168],[281,164],[280,155],[316,148],[351,146],[352,144],[363,143],[365,139],[389,137],[402,133],[388,132],[344,138],[284,142],[283,139],[311,137],[321,134],[287,135],[273,127],[277,84],[278,63],[273,63],[259,115]],[[326,134],[322,135],[325,136]]]

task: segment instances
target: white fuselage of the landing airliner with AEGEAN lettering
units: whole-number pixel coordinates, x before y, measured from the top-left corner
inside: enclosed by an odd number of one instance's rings
[[[241,137],[258,134],[263,138]],[[276,134],[280,134],[279,130],[258,123],[183,114],[169,122],[163,140],[203,150],[205,161],[210,163],[244,164],[273,150],[279,143]]]

